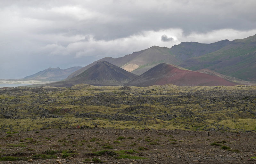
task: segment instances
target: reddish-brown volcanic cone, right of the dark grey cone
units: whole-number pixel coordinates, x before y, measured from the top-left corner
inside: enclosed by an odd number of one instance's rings
[[[151,85],[174,84],[177,86],[233,86],[235,82],[223,78],[161,63],[128,82],[128,86],[147,87]]]

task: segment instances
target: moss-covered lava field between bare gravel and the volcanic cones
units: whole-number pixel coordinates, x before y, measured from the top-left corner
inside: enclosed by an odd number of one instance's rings
[[[1,131],[73,128],[255,131],[256,86],[1,88]]]

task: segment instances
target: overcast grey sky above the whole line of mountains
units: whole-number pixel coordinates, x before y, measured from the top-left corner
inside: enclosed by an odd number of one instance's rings
[[[0,79],[256,34],[255,0],[0,0]]]

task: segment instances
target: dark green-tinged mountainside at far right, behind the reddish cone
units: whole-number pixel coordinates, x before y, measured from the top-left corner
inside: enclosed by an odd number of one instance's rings
[[[256,81],[256,35],[233,40],[218,51],[186,60],[179,66],[199,70],[208,68],[220,74]]]

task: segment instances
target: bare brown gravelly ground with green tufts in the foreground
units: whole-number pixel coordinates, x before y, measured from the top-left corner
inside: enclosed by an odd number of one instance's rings
[[[0,163],[97,163],[94,158],[106,164],[256,163],[251,159],[256,156],[255,133],[210,132],[209,135],[206,131],[165,129],[1,132],[0,158],[12,156],[23,160]],[[222,149],[225,146],[229,148]],[[93,153],[102,150],[107,151],[103,155]],[[50,154],[54,159],[43,159]],[[33,161],[29,162],[30,159]]]

